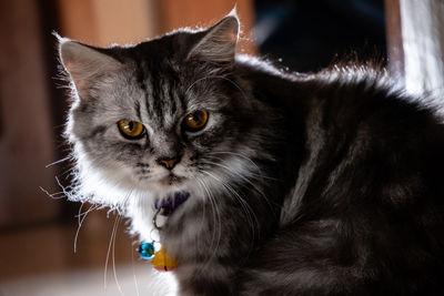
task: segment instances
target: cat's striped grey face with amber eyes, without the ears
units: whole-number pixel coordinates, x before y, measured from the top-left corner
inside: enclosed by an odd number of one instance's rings
[[[128,67],[101,84],[95,98],[72,110],[70,133],[113,183],[180,188],[205,172],[210,160],[218,163],[223,156],[212,153],[236,145],[231,136],[238,134],[236,126],[230,123],[235,111],[220,81],[211,83],[218,78],[195,76],[203,80],[192,85],[193,80],[182,81],[182,69],[173,67],[168,73],[147,72],[143,82]]]

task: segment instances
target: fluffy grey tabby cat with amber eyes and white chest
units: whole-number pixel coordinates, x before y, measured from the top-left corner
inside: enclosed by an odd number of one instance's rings
[[[239,25],[59,39],[70,198],[120,210],[141,242],[158,227],[180,295],[444,295],[436,108],[383,69],[235,54]]]

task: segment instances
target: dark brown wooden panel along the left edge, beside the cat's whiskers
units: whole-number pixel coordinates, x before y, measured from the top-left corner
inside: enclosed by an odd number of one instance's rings
[[[49,75],[34,0],[0,1],[0,228],[48,221],[57,203]]]

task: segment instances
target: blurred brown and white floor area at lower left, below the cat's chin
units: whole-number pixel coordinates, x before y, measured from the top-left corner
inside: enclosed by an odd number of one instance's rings
[[[0,296],[169,295],[174,290],[171,275],[153,272],[139,257],[124,221],[118,224],[108,256],[114,222],[112,214],[91,212],[79,231],[75,253],[77,221],[0,233]]]

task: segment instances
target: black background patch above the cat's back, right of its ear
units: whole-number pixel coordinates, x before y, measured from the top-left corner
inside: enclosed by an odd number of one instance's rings
[[[262,54],[299,72],[356,57],[386,60],[382,0],[256,0]]]

